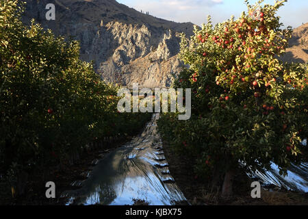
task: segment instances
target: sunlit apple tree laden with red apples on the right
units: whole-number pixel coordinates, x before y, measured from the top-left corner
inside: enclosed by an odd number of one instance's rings
[[[307,64],[279,61],[292,36],[277,16],[286,1],[245,2],[240,18],[214,26],[209,16],[190,40],[182,36],[180,57],[189,67],[175,87],[192,88],[192,119],[159,122],[164,138],[191,155],[196,172],[211,176],[223,196],[232,192],[239,161],[249,170],[274,162],[283,175],[303,159],[307,137],[300,134],[307,130]]]

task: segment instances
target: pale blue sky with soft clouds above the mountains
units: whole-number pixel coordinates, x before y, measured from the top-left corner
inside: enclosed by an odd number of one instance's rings
[[[226,21],[231,15],[240,16],[246,11],[244,0],[117,0],[136,10],[176,22],[201,25],[211,15],[213,23]],[[249,0],[251,4],[257,0]],[[274,4],[274,0],[264,3]],[[279,10],[281,22],[287,27],[298,27],[308,22],[308,0],[288,0]]]

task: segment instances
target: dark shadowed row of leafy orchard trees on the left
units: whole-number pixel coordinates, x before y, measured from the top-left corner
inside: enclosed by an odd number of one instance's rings
[[[0,170],[64,164],[86,144],[131,136],[149,114],[120,114],[118,87],[79,60],[79,42],[21,23],[23,5],[0,1]],[[20,4],[19,4],[20,5]]]

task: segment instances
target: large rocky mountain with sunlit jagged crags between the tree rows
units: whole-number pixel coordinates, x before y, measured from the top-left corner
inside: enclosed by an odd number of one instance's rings
[[[24,23],[34,18],[45,29],[81,42],[81,59],[94,61],[106,81],[131,86],[168,87],[182,63],[179,33],[192,35],[192,23],[143,14],[114,0],[27,0]],[[46,5],[55,5],[47,21]]]

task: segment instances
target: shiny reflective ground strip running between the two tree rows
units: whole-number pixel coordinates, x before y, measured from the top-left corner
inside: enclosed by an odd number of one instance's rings
[[[66,205],[133,205],[133,198],[149,205],[186,201],[159,151],[158,118],[154,114],[140,136],[101,159],[86,181],[74,182],[82,187],[62,194],[69,197]]]

